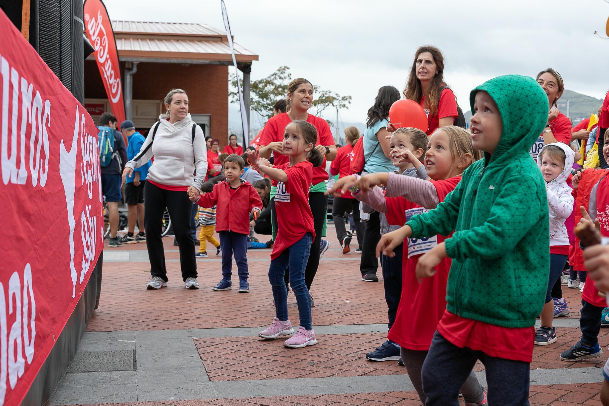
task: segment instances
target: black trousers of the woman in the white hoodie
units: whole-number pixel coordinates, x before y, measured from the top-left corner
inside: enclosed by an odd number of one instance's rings
[[[194,240],[191,230],[192,201],[186,192],[161,189],[150,182],[144,186],[144,228],[146,228],[146,248],[150,258],[150,273],[167,282],[165,251],[161,230],[165,208],[169,211],[175,239],[180,247],[180,268],[182,279],[197,277],[197,260],[194,256]]]

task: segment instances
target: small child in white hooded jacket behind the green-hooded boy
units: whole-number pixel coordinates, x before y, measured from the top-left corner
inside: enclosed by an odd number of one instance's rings
[[[546,304],[541,310],[541,327],[535,333],[535,344],[548,345],[556,341],[554,301],[552,287],[560,278],[569,254],[569,236],[565,220],[573,211],[574,198],[566,180],[571,173],[575,153],[562,142],[547,144],[541,149],[537,165],[546,181],[547,206],[550,211],[550,278],[547,285]]]

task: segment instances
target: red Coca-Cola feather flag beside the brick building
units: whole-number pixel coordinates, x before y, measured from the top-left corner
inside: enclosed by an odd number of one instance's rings
[[[84,7],[86,37],[95,49],[97,68],[104,79],[112,113],[121,124],[125,121],[125,103],[122,100],[121,67],[112,24],[102,0],[85,0]]]

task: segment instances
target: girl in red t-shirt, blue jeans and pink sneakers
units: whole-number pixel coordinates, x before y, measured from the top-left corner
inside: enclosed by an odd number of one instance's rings
[[[260,172],[277,182],[275,209],[277,236],[270,254],[269,281],[275,299],[275,318],[269,327],[258,335],[277,338],[294,332],[287,317],[287,288],[284,281],[289,267],[290,286],[296,296],[300,327],[298,332],[284,341],[289,348],[301,348],[317,344],[311,323],[311,296],[305,284],[305,267],[315,237],[313,215],[309,208],[309,188],[313,168],[323,162],[323,155],[315,148],[317,130],[304,120],[295,120],[285,128],[281,150],[289,162],[271,165],[266,158],[259,158]],[[254,159],[256,153],[248,153]],[[250,162],[251,164],[254,164]]]

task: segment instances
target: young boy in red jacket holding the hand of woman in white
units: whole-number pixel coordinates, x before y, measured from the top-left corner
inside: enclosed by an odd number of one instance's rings
[[[224,161],[226,179],[214,185],[208,194],[190,196],[197,205],[210,208],[217,205],[216,231],[220,234],[222,250],[222,281],[213,290],[233,289],[233,254],[239,272],[239,293],[250,292],[247,282],[247,237],[250,234],[250,213],[256,218],[260,214],[262,201],[256,189],[240,177],[244,161],[236,154],[228,155]]]

